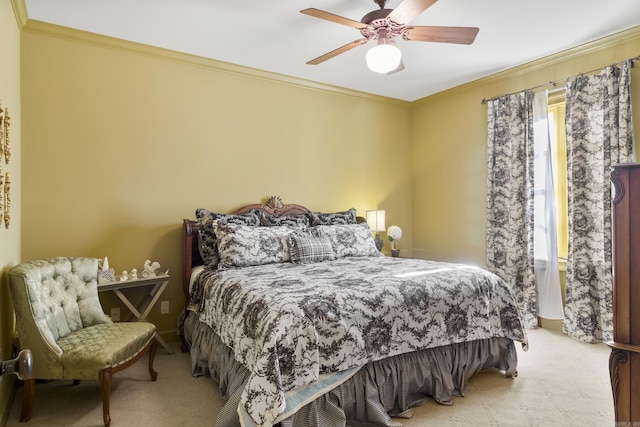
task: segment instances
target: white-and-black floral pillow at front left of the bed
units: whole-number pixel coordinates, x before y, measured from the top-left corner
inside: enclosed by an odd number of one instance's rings
[[[250,227],[224,220],[213,223],[218,240],[218,270],[230,267],[290,262],[289,235],[300,227]]]

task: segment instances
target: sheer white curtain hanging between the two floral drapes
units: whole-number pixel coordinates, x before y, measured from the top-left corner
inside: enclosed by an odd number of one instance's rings
[[[534,134],[534,271],[538,316],[562,319],[562,294],[558,271],[556,203],[553,185],[547,92],[533,98]]]

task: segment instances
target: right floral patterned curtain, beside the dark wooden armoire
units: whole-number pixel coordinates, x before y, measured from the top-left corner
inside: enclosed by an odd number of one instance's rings
[[[610,167],[633,161],[630,63],[567,82],[569,259],[563,331],[612,339]]]

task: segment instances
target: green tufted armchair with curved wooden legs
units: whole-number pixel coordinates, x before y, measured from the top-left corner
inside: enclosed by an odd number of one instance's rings
[[[152,323],[112,322],[98,298],[98,260],[53,258],[9,270],[21,348],[33,354],[33,374],[24,383],[20,421],[31,418],[36,379],[98,380],[104,425],[111,423],[112,375],[149,351],[149,374],[156,351]]]

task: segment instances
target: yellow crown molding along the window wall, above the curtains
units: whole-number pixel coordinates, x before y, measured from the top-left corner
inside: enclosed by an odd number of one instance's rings
[[[605,36],[597,40],[554,53],[549,56],[545,56],[544,58],[540,58],[535,61],[531,61],[525,64],[511,67],[506,70],[502,70],[497,73],[491,74],[487,77],[482,77],[472,82],[465,83],[460,86],[456,86],[454,88],[435,93],[433,95],[429,95],[427,97],[414,101],[413,104],[418,105],[420,104],[420,102],[425,100],[432,101],[435,98],[446,97],[459,92],[465,92],[472,89],[487,86],[501,80],[516,78],[519,76],[523,76],[523,75],[535,72],[543,68],[548,68],[554,65],[567,62],[567,61],[571,61],[572,59],[579,58],[588,54],[598,53],[598,52],[601,52],[602,50],[609,49],[612,46],[616,46],[624,43],[633,43],[633,42],[638,43],[638,52],[630,56],[625,56],[624,58],[620,58],[620,60],[624,60],[627,57],[637,56],[640,53],[640,26],[633,27],[624,31],[620,31],[615,34]],[[613,62],[616,62],[616,61],[613,61]],[[603,63],[602,66],[605,67],[610,64],[611,62],[607,62],[607,63]],[[576,74],[579,74],[579,72]],[[566,76],[565,78],[569,78],[569,77],[571,76]],[[548,81],[543,81],[540,83],[541,85],[544,85],[548,83]],[[535,85],[532,85],[532,86],[535,86]],[[491,96],[488,96],[486,98],[489,99],[491,98]]]

